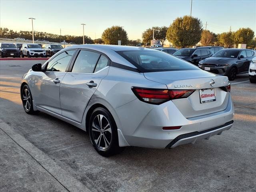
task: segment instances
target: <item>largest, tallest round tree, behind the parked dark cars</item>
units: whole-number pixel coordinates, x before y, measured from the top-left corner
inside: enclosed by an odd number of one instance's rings
[[[193,46],[201,39],[202,22],[190,16],[178,17],[167,30],[166,38],[178,48]]]

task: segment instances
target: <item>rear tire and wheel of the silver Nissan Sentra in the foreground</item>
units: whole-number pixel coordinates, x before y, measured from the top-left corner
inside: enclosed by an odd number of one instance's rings
[[[108,157],[124,150],[124,147],[119,147],[118,144],[114,118],[105,108],[94,109],[90,116],[88,131],[92,145],[100,155]]]

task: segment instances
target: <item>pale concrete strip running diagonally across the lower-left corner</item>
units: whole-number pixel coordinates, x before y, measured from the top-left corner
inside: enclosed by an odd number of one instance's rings
[[[52,158],[42,152],[22,135],[0,119],[0,128],[25,150],[40,166],[50,173],[69,192],[91,192],[84,184],[62,169]]]

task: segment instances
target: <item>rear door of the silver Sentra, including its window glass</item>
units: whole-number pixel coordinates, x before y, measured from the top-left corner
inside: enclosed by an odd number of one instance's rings
[[[97,90],[101,80],[108,74],[110,60],[98,52],[80,50],[72,70],[60,84],[62,116],[82,122],[84,110]]]

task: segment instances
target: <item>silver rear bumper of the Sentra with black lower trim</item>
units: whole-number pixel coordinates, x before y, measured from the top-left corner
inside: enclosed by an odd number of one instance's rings
[[[130,146],[173,148],[181,144],[194,143],[230,129],[234,117],[230,94],[225,110],[192,118],[185,118],[172,101],[154,105],[152,108],[149,108],[148,104],[144,108],[144,103],[139,100],[134,100],[128,105],[132,107],[129,113],[127,106],[117,108],[116,112],[122,124],[120,131]],[[164,126],[181,128],[163,130]]]

